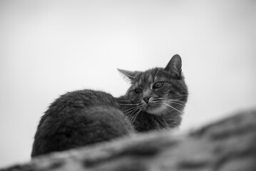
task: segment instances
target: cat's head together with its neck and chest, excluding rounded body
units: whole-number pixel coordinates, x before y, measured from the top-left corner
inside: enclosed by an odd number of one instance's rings
[[[165,68],[148,71],[118,69],[130,80],[126,95],[117,98],[137,132],[175,128],[188,100],[188,88],[179,55],[173,56]]]

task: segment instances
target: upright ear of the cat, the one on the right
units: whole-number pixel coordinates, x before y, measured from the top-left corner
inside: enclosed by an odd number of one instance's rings
[[[181,76],[181,58],[178,54],[173,56],[167,66],[164,69],[169,73],[172,73],[173,76],[179,78]]]

